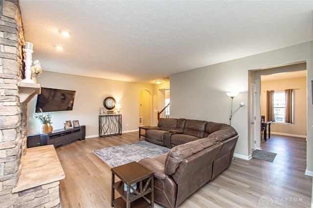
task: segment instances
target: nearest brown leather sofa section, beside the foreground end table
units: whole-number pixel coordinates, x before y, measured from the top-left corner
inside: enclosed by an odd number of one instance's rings
[[[155,172],[155,201],[176,208],[212,178],[222,144],[207,138],[173,147],[169,153],[139,161]]]

